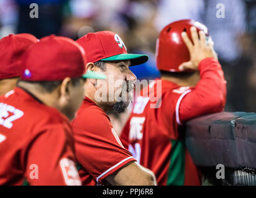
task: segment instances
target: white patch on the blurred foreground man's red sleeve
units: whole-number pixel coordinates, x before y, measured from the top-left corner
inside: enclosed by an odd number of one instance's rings
[[[65,179],[65,183],[68,186],[81,186],[80,176],[78,171],[76,171],[76,166],[74,161],[67,158],[60,160],[60,167],[62,168],[62,173]]]

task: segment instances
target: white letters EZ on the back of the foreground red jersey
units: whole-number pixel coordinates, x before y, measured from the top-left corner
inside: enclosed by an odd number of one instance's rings
[[[12,113],[13,115],[9,116],[9,113]],[[23,111],[18,110],[11,105],[0,103],[0,125],[11,129],[11,127],[13,126],[12,122],[16,119],[21,118],[23,115]],[[9,118],[7,118],[8,116]]]

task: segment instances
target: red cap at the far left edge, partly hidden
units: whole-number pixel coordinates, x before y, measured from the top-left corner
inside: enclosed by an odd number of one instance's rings
[[[10,34],[0,40],[0,79],[19,76],[22,55],[39,40],[29,33]]]

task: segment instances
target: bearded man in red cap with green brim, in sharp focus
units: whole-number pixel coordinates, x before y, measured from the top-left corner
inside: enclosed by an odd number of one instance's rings
[[[86,82],[85,99],[71,123],[83,185],[155,185],[153,173],[124,149],[106,114],[126,110],[136,80],[129,66],[148,56],[128,54],[121,38],[109,31],[88,33],[76,42],[85,49],[86,68],[107,76]]]

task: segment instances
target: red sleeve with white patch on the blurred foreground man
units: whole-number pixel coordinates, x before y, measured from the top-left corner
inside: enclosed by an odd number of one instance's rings
[[[25,178],[29,185],[78,186],[71,134],[62,124],[46,126],[27,152]]]

